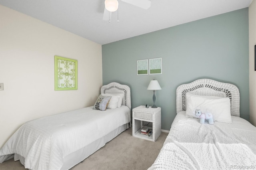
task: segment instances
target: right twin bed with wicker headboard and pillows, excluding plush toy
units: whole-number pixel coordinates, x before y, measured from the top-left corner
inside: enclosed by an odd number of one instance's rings
[[[227,98],[230,104],[224,105]],[[204,105],[220,113],[214,117],[214,125],[191,118],[188,110]],[[177,115],[148,170],[255,169],[256,127],[239,117],[239,105],[235,85],[210,79],[180,85],[176,91]]]

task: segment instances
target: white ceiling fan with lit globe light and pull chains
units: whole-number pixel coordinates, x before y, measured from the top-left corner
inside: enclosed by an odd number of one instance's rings
[[[151,6],[150,0],[121,0],[121,1],[134,6],[138,6],[145,10],[150,8]],[[110,22],[112,12],[115,12],[117,9],[118,9],[118,0],[105,0],[103,20]]]

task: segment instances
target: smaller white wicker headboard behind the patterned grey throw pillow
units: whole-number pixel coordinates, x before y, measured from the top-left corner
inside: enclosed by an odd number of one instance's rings
[[[121,85],[119,83],[112,82],[108,85],[103,85],[100,89],[100,93],[123,93],[124,98],[122,105],[127,106],[131,110],[131,92],[128,85]]]

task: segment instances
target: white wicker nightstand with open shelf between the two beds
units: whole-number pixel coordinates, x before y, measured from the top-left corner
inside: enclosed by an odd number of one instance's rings
[[[152,134],[140,134],[142,121],[152,122]],[[146,108],[138,106],[132,109],[132,136],[146,140],[156,141],[161,134],[161,108]]]

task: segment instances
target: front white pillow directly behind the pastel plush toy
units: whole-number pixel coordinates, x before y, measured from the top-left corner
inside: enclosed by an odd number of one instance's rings
[[[194,117],[196,109],[202,113],[210,112],[217,122],[232,123],[230,99],[228,97],[199,96],[186,93],[186,117]]]

